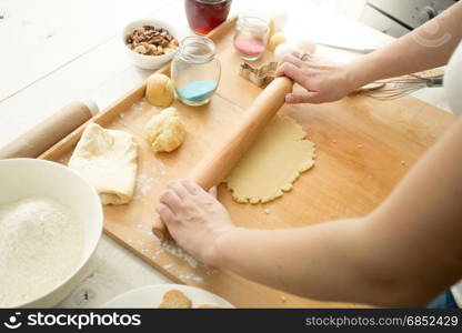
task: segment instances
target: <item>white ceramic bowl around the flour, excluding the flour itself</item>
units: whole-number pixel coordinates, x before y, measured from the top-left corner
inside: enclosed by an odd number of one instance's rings
[[[103,212],[98,193],[76,171],[59,163],[34,159],[0,160],[0,204],[34,195],[48,196],[66,204],[83,224],[83,249],[73,272],[41,296],[17,305],[53,306],[84,278],[87,264],[101,238]]]

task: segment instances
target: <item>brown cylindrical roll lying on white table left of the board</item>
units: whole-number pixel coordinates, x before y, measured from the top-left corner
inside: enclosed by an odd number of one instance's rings
[[[91,102],[72,102],[0,149],[1,159],[37,158],[99,112]]]

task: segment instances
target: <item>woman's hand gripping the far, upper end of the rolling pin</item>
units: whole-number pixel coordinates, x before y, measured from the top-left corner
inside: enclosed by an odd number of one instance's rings
[[[304,93],[288,93],[287,103],[325,103],[342,99],[361,87],[348,64],[335,64],[307,54],[300,60],[295,53],[285,56],[277,77],[288,77],[307,89]]]

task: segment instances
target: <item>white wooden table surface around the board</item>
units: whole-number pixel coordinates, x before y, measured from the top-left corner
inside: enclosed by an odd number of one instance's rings
[[[289,36],[363,48],[392,41],[309,1],[253,0],[251,6],[285,11]],[[249,1],[234,0],[232,12],[248,7]],[[145,17],[188,30],[183,0],[0,0],[0,147],[70,101],[91,99],[103,110],[145,80],[151,72],[129,62],[120,37],[127,22]],[[358,57],[322,47],[318,52],[339,61]],[[418,95],[448,110],[441,89]],[[99,306],[130,289],[168,282],[103,235],[88,278],[60,305]]]

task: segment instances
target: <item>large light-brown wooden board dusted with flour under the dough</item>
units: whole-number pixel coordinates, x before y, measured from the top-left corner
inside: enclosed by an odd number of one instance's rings
[[[145,122],[158,112],[142,100],[145,85],[92,119],[134,134],[140,148],[134,199],[127,205],[104,206],[104,231],[173,281],[203,287],[238,307],[355,306],[305,300],[204,268],[174,244],[162,245],[151,232],[154,205],[164,184],[188,176],[224,140],[261,91],[238,75],[242,61],[232,47],[233,27],[232,20],[211,34],[222,63],[221,82],[211,103],[199,108],[174,103],[188,132],[179,150],[154,154],[142,139]],[[259,63],[271,57],[265,54]],[[169,73],[168,67],[160,72]],[[315,143],[315,167],[300,176],[290,193],[268,204],[238,204],[221,185],[219,199],[238,225],[294,228],[368,214],[454,122],[451,114],[410,97],[390,102],[349,97],[322,105],[284,105],[280,113],[294,118]],[[67,163],[82,130],[41,158]]]

